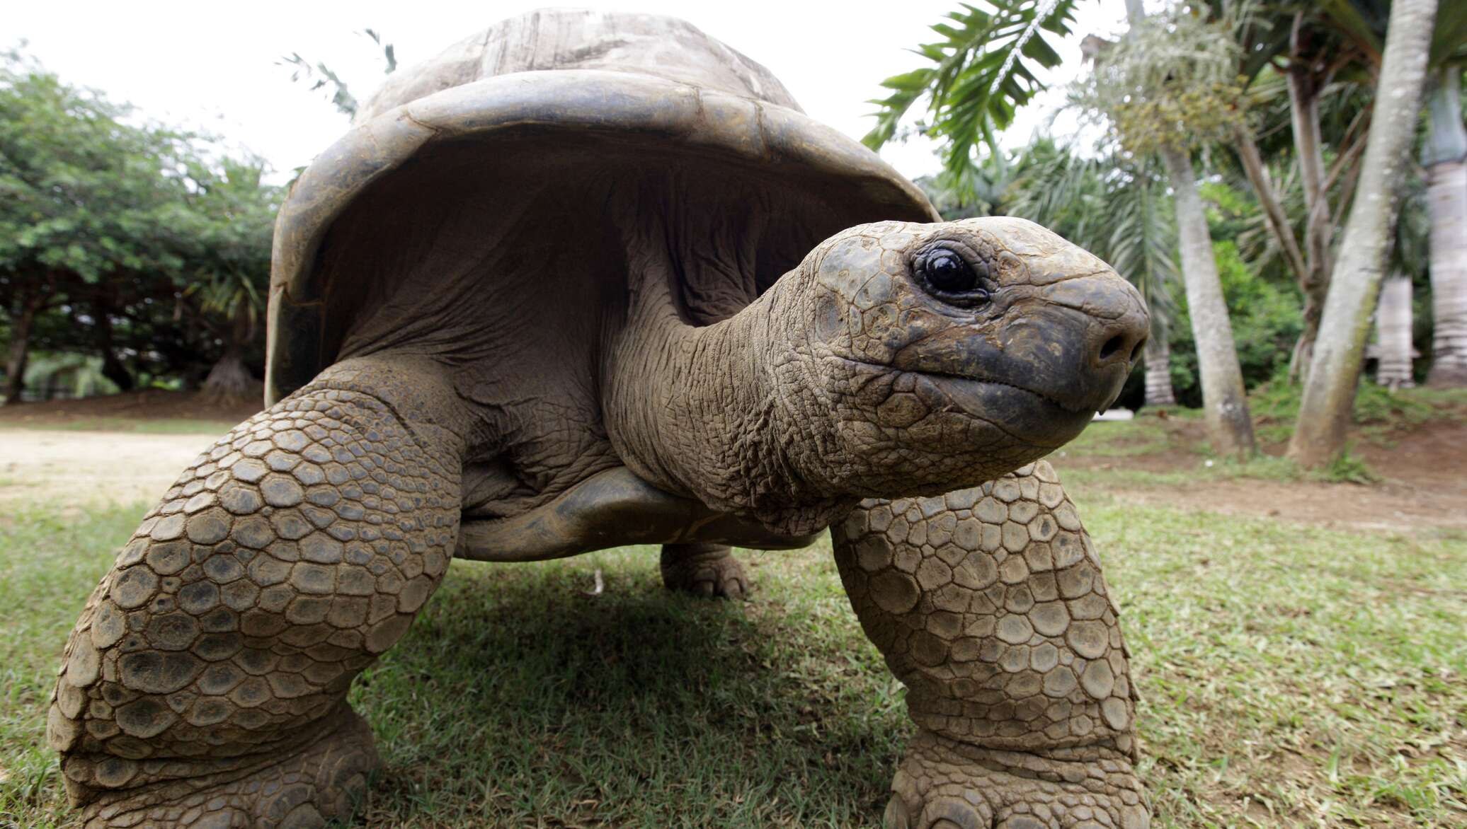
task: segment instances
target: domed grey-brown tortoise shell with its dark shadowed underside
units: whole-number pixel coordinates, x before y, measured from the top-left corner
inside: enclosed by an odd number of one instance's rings
[[[615,308],[648,246],[670,250],[688,319],[710,322],[830,233],[934,218],[876,154],[697,28],[533,12],[393,75],[295,182],[266,403],[383,349],[515,359],[474,331],[525,302]]]

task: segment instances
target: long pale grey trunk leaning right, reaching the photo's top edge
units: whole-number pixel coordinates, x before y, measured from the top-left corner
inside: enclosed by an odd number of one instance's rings
[[[1331,274],[1298,425],[1289,441],[1289,457],[1304,467],[1322,466],[1345,447],[1372,306],[1391,253],[1400,185],[1420,114],[1435,16],[1436,0],[1391,4],[1360,190],[1350,207],[1344,243]]]

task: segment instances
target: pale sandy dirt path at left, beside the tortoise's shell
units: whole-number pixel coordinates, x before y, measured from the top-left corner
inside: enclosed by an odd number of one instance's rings
[[[0,513],[26,501],[156,501],[213,442],[208,435],[0,429]]]

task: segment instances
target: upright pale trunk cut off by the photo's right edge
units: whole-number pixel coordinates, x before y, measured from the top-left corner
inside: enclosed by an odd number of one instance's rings
[[[1429,385],[1467,387],[1467,129],[1461,69],[1442,69],[1426,146],[1432,211],[1432,371]]]

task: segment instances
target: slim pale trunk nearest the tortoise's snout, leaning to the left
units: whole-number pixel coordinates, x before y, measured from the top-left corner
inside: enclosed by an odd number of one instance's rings
[[[1203,215],[1197,182],[1193,179],[1191,158],[1182,149],[1162,151],[1172,182],[1177,205],[1177,234],[1182,250],[1182,283],[1187,286],[1187,308],[1191,315],[1193,338],[1197,341],[1197,369],[1201,373],[1201,406],[1207,432],[1222,454],[1251,456],[1257,451],[1253,439],[1253,419],[1243,390],[1243,369],[1232,343],[1228,305],[1222,299],[1218,262],[1212,253],[1212,233]]]

